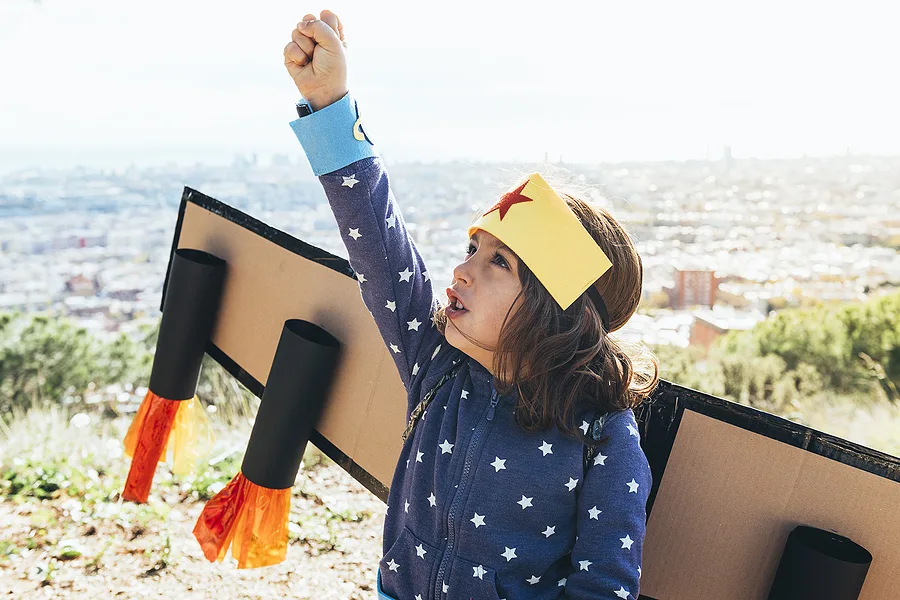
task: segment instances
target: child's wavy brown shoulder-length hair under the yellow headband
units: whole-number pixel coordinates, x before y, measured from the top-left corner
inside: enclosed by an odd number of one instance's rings
[[[496,379],[498,392],[518,387],[515,414],[522,429],[542,431],[555,423],[564,435],[589,442],[575,414],[637,408],[659,382],[659,361],[645,347],[608,335],[625,325],[641,300],[643,264],[628,233],[604,208],[554,188],[613,264],[593,284],[606,303],[609,331],[587,293],[564,311],[521,260],[522,290],[504,318],[497,348],[457,331],[494,351],[493,372],[503,374]],[[434,315],[441,334],[448,323],[445,308]]]

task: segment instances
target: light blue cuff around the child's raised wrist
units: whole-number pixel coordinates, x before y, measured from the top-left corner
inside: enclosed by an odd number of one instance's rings
[[[316,177],[378,156],[362,128],[359,107],[350,92],[322,110],[291,121],[291,129],[303,146]]]

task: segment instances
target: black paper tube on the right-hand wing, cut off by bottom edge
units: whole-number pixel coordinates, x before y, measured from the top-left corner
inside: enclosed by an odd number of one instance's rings
[[[800,525],[788,536],[769,600],[857,600],[870,564],[859,544]]]

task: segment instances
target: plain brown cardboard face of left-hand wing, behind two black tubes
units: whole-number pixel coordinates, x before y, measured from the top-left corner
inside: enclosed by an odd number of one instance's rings
[[[386,499],[402,447],[406,391],[356,280],[198,204],[183,208],[177,247],[228,262],[212,343],[264,385],[286,320],[311,321],[335,336],[343,354],[316,430],[356,465],[357,479]]]

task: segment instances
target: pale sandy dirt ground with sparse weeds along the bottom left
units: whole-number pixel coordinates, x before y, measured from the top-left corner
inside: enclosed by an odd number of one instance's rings
[[[309,518],[292,523],[287,560],[259,569],[204,558],[191,533],[204,503],[190,494],[89,515],[71,499],[0,502],[0,598],[375,597],[384,503],[334,463],[302,478],[291,512]]]

